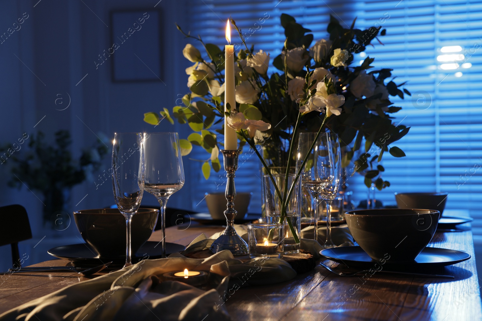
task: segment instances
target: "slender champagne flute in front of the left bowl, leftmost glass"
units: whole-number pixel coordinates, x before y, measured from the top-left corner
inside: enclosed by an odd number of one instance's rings
[[[131,222],[144,193],[142,133],[115,133],[112,146],[112,187],[117,208],[126,221],[125,267],[132,265]]]

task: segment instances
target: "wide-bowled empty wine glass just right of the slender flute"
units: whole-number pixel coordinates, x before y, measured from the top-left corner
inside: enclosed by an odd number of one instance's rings
[[[177,133],[147,133],[144,139],[146,160],[145,190],[161,205],[162,257],[166,257],[165,211],[169,196],[184,185],[184,167]]]

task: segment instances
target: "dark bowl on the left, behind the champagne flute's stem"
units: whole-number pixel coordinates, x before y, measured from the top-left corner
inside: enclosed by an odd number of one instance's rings
[[[158,209],[139,208],[132,217],[133,255],[146,243],[156,226]],[[126,224],[117,208],[84,209],[74,212],[75,224],[84,241],[100,257],[125,257]]]

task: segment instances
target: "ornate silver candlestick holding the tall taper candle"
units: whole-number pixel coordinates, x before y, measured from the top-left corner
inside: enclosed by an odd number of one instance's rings
[[[227,150],[222,149],[224,158],[224,169],[226,170],[226,200],[228,201],[228,208],[224,211],[226,217],[227,227],[223,234],[221,234],[211,245],[209,249],[211,253],[217,253],[222,250],[229,250],[234,256],[248,255],[248,244],[236,233],[234,229],[234,218],[238,212],[234,209],[234,199],[236,198],[236,189],[234,188],[234,172],[238,169],[238,156],[241,153],[240,149]]]

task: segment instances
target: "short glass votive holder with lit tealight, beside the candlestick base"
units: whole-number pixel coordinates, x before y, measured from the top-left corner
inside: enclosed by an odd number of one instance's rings
[[[284,224],[248,224],[249,256],[282,257],[284,251]]]

